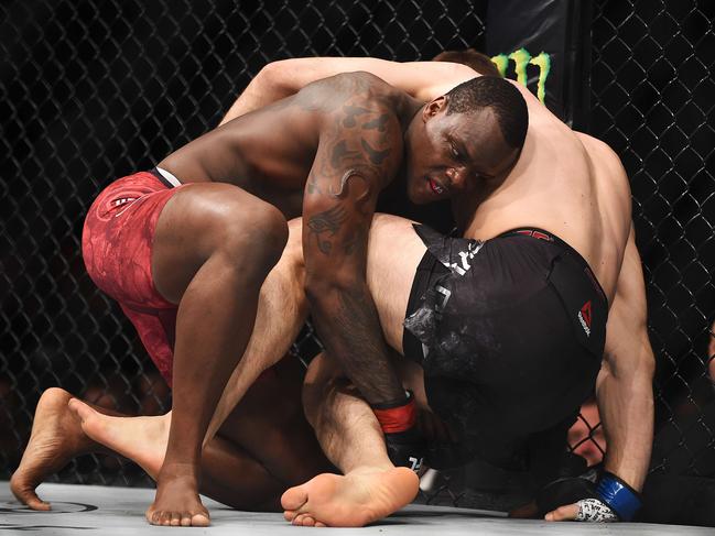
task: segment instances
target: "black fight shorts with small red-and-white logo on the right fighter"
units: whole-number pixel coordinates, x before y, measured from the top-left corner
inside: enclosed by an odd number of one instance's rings
[[[414,226],[427,247],[404,320],[407,358],[462,462],[523,466],[523,446],[593,393],[608,303],[586,261],[535,229],[486,242]]]

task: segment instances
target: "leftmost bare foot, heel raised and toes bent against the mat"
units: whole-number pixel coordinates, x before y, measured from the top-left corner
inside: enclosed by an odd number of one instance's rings
[[[10,480],[10,489],[18,501],[32,510],[51,510],[35,488],[74,458],[98,446],[88,438],[79,422],[67,407],[72,395],[65,390],[51,387],[37,402],[32,434],[20,467]]]

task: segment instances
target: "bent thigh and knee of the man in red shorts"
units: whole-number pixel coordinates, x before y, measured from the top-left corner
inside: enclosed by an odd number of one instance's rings
[[[286,237],[280,210],[248,192],[220,183],[185,185],[166,203],[156,222],[154,285],[166,299],[178,303],[194,274],[217,252],[228,262],[250,260],[251,271],[268,272]]]

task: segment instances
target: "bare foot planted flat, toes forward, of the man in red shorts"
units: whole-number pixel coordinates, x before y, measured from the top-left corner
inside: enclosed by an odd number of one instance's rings
[[[196,467],[188,463],[164,463],[156,480],[156,497],[147,510],[152,525],[206,527],[208,511],[198,497]]]

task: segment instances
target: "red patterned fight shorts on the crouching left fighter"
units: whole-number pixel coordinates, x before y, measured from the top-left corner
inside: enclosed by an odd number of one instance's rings
[[[139,172],[107,186],[85,219],[82,254],[91,281],[119,303],[171,386],[177,306],[156,291],[151,253],[159,215],[182,186],[160,177]]]

